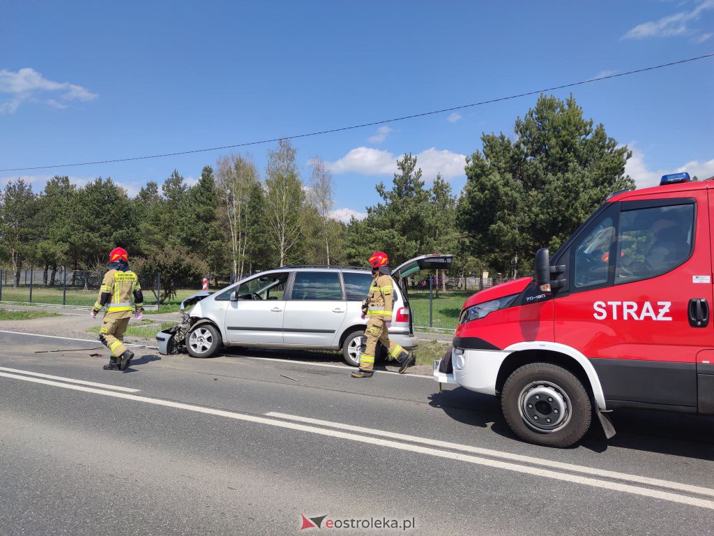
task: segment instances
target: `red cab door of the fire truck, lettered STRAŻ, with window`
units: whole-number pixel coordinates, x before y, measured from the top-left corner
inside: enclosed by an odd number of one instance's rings
[[[700,283],[711,274],[708,205],[691,194],[615,203],[555,261],[567,274],[555,342],[590,359],[612,407],[697,404],[695,357],[712,337],[690,311],[710,307],[712,289]]]

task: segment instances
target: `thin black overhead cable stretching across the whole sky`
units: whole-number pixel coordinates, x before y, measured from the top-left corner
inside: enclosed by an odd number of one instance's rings
[[[666,64],[655,65],[651,67],[644,67],[643,69],[635,69],[634,71],[627,71],[619,74],[608,74],[607,76],[598,76],[598,78],[591,78],[587,80],[580,80],[578,82],[572,82],[570,84],[562,84],[560,86],[546,87],[544,89],[537,89],[535,91],[526,91],[526,93],[519,93],[517,95],[502,96],[498,99],[489,99],[488,101],[473,102],[471,104],[462,104],[461,106],[452,106],[451,108],[443,108],[441,110],[424,111],[421,114],[411,114],[401,117],[393,117],[392,119],[382,119],[381,121],[371,121],[370,123],[362,123],[351,126],[341,126],[338,129],[328,129],[320,130],[316,132],[309,132],[308,134],[294,134],[293,136],[281,136],[272,139],[262,139],[258,142],[245,142],[241,144],[224,145],[223,147],[208,147],[207,149],[193,149],[192,151],[180,151],[174,153],[164,153],[164,154],[152,154],[148,157],[131,157],[131,158],[117,158],[112,160],[97,160],[96,162],[78,162],[75,164],[53,164],[51,166],[35,166],[35,167],[15,167],[8,169],[0,169],[0,172],[24,172],[36,169],[50,169],[54,167],[77,167],[77,166],[90,166],[92,164],[112,164],[114,162],[131,162],[133,160],[147,160],[152,158],[163,158],[163,157],[176,157],[181,154],[193,154],[202,153],[208,151],[220,151],[221,149],[236,149],[237,147],[248,147],[251,145],[260,145],[267,143],[278,142],[281,139],[298,139],[307,138],[311,136],[319,136],[321,134],[332,134],[334,132],[342,132],[346,130],[363,129],[366,126],[375,126],[379,124],[393,123],[395,121],[404,121],[405,119],[415,119],[416,117],[424,117],[428,115],[443,114],[446,111],[463,110],[465,108],[472,108],[473,106],[483,106],[484,104],[493,104],[494,102],[508,101],[511,99],[520,99],[523,96],[535,95],[540,93],[545,93],[545,91],[555,91],[556,89],[565,89],[568,87],[583,86],[584,84],[592,84],[593,82],[598,82],[602,80],[607,80],[611,78],[618,78],[619,76],[629,76],[630,74],[643,73],[645,71],[654,71],[655,69],[663,69],[664,67],[671,67],[675,65],[681,65],[689,63],[690,61],[698,61],[700,59],[707,59],[714,56],[713,54],[705,54],[704,56],[696,56],[695,58],[680,59],[679,61],[670,61]]]

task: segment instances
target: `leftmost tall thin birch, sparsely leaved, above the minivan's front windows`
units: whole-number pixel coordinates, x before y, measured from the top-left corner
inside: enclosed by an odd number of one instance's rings
[[[221,202],[221,222],[231,239],[233,277],[243,278],[246,268],[251,214],[246,209],[251,187],[258,182],[256,164],[249,155],[229,154],[218,159],[216,189]]]

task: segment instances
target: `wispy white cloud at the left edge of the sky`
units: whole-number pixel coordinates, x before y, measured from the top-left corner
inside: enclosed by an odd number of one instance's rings
[[[26,101],[64,109],[66,102],[91,101],[97,96],[77,84],[48,80],[29,67],[17,72],[0,69],[0,93],[10,96],[9,100],[0,102],[0,114],[11,114]]]

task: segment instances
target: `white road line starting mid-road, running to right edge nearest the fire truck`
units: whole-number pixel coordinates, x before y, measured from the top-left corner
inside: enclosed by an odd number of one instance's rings
[[[472,447],[471,445],[461,445],[459,443],[451,443],[447,441],[431,440],[427,437],[418,437],[414,435],[399,434],[396,432],[386,432],[384,430],[376,430],[373,428],[366,428],[354,425],[345,425],[341,422],[332,422],[319,419],[311,419],[310,417],[300,417],[298,415],[288,415],[286,413],[279,412],[268,412],[265,414],[266,417],[278,417],[280,419],[286,419],[296,422],[305,422],[311,425],[327,426],[331,428],[337,428],[338,430],[349,430],[351,432],[360,432],[362,434],[377,435],[380,437],[390,437],[394,440],[411,441],[415,443],[422,443],[423,445],[431,445],[433,447],[442,447],[454,450],[461,450],[463,452],[472,452],[474,454],[493,456],[498,458],[503,458],[506,460],[515,460],[517,462],[526,462],[535,465],[544,465],[545,467],[563,469],[566,471],[581,472],[588,475],[598,476],[598,477],[608,477],[615,478],[618,480],[627,480],[628,482],[636,482],[638,484],[645,484],[650,486],[666,487],[670,490],[684,491],[690,493],[697,493],[699,495],[710,495],[714,497],[714,490],[709,487],[693,486],[689,484],[680,484],[680,482],[670,482],[669,480],[660,480],[657,478],[650,477],[640,477],[639,475],[629,475],[627,473],[608,471],[603,469],[596,469],[595,467],[585,467],[584,465],[574,465],[564,462],[555,462],[553,460],[545,460],[543,458],[535,458],[531,456],[523,456],[518,454],[512,454],[511,452],[501,452],[500,450],[484,449],[481,447]]]

